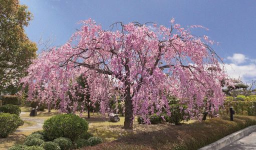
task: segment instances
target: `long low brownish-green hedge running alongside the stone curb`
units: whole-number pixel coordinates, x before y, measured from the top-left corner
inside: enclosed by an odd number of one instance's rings
[[[190,124],[169,125],[151,132],[121,136],[116,141],[105,142],[90,149],[198,149],[226,135],[256,124],[256,117],[235,115],[234,121],[221,116]],[[86,148],[84,148],[86,149]]]

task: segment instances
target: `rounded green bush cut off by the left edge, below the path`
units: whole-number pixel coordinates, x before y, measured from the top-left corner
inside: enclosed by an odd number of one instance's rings
[[[7,137],[23,123],[23,120],[17,114],[0,113],[0,137]]]

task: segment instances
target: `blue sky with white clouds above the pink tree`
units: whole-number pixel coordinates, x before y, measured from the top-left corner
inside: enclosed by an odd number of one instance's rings
[[[208,35],[224,58],[230,76],[256,79],[256,1],[254,0],[20,0],[34,19],[26,28],[29,38],[62,45],[79,28],[77,22],[92,18],[107,29],[116,21],[153,21],[169,25],[175,18],[182,26],[209,28],[193,34]]]

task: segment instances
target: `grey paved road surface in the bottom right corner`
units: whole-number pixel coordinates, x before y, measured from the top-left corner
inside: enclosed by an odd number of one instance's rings
[[[227,149],[256,149],[256,130],[254,130],[248,136],[244,136],[243,138],[221,148],[221,150]]]

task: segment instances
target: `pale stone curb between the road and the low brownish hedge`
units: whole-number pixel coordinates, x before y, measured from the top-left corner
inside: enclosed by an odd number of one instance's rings
[[[255,129],[256,129],[256,125],[246,127],[244,129],[238,130],[237,132],[234,132],[230,135],[227,135],[209,145],[206,145],[198,150],[216,150],[216,149],[223,148],[226,145],[234,142],[235,140],[240,139],[241,137],[250,134]]]

